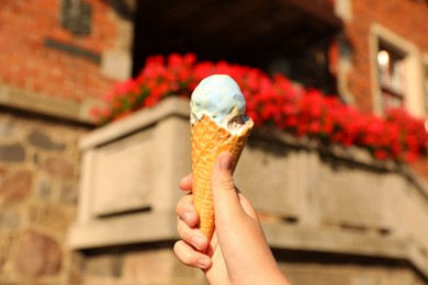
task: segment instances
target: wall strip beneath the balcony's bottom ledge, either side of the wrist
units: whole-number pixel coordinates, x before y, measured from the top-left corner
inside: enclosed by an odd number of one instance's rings
[[[199,270],[180,264],[170,247],[147,247],[93,251],[85,261],[85,284],[131,285],[204,285]],[[415,285],[426,281],[405,263],[370,259],[326,256],[322,253],[274,251],[282,272],[293,284],[303,285]],[[172,274],[171,274],[172,273]]]

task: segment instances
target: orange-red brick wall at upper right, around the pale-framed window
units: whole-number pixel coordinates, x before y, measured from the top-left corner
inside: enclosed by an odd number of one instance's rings
[[[373,111],[369,55],[369,27],[378,22],[428,53],[428,4],[426,1],[369,1],[352,2],[351,21],[345,23],[345,34],[352,48],[352,69],[348,75],[348,89],[362,111]]]

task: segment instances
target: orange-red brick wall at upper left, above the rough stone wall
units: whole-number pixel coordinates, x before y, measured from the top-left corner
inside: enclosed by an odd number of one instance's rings
[[[59,0],[1,1],[0,84],[72,101],[108,92],[112,80],[95,61],[114,46],[117,27],[108,1],[86,2],[92,11],[91,33],[78,36],[61,26]],[[83,50],[94,59],[48,47],[49,43]]]

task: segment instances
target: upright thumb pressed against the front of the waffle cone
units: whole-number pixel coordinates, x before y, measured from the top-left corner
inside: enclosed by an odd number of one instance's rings
[[[211,189],[213,192],[214,210],[216,219],[223,216],[230,217],[243,212],[232,169],[234,157],[230,152],[222,152],[214,163],[211,174]]]

